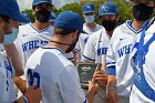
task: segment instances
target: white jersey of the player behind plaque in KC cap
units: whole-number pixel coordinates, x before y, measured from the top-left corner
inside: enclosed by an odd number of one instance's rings
[[[105,29],[101,29],[89,38],[82,58],[86,61],[105,65],[105,55],[108,44],[110,35]]]

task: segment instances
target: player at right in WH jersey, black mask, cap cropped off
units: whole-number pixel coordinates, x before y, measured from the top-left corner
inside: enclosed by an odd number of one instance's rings
[[[152,0],[133,0],[134,20],[127,20],[113,32],[106,54],[106,90],[111,103],[130,103],[130,92],[133,83],[130,56],[133,47],[136,44],[136,38],[142,33],[143,23],[153,13],[152,3],[154,3]]]

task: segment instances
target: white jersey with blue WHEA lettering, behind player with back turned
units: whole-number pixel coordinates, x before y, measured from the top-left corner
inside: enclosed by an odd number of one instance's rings
[[[29,56],[40,47],[46,44],[53,37],[53,27],[48,27],[41,31],[37,30],[32,23],[19,27],[18,39],[14,44],[22,58],[23,68]],[[68,59],[73,55],[68,54]]]

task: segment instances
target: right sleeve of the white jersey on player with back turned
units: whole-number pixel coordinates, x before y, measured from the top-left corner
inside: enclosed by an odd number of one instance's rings
[[[75,66],[66,66],[60,73],[59,86],[63,103],[86,103]]]

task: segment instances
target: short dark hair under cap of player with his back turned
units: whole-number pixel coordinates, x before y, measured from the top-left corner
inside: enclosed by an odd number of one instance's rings
[[[68,35],[76,30],[54,28],[54,34]]]

